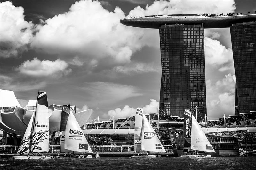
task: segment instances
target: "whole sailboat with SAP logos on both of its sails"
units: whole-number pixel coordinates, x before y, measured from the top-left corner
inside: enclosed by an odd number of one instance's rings
[[[156,132],[148,122],[146,116],[143,115],[143,110],[141,108],[138,108],[135,114],[134,152],[137,153],[137,155],[132,156],[133,158],[155,158],[161,157],[161,155],[157,155],[157,153],[166,153]],[[140,155],[140,153],[143,154]],[[144,155],[144,153],[147,154]]]

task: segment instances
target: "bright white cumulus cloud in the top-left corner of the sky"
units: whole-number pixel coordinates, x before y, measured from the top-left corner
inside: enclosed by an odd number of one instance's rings
[[[17,57],[28,49],[32,41],[33,24],[24,20],[24,9],[15,7],[12,2],[0,3],[0,56]]]

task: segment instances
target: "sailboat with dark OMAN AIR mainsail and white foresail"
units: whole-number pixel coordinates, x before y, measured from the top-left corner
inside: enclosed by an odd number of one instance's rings
[[[185,139],[183,152],[212,152],[216,153],[212,148],[211,143],[205,136],[201,126],[196,121],[195,117],[189,110],[185,110],[184,113],[184,125],[183,125],[183,136]],[[180,158],[198,158],[198,157],[211,157],[207,154],[196,154],[196,155],[181,155]]]

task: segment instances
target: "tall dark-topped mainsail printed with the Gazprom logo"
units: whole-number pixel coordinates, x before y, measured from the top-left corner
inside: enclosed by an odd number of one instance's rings
[[[49,117],[46,92],[38,93],[31,152],[49,151]]]

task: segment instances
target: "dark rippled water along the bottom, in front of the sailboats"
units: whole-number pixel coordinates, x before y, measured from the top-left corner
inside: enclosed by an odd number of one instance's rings
[[[97,169],[97,170],[140,170],[140,169],[256,169],[256,157],[212,157],[212,158],[129,158],[103,157],[100,159],[0,159],[0,169]]]

